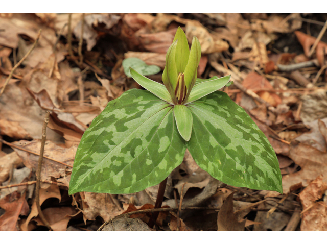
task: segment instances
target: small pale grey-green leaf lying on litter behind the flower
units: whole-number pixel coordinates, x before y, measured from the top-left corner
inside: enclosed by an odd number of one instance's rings
[[[153,74],[157,74],[160,72],[160,67],[157,65],[147,65],[143,60],[138,59],[136,57],[131,57],[123,60],[123,68],[127,77],[131,78],[131,74],[129,71],[129,67],[136,70],[139,74],[144,76],[149,76]]]

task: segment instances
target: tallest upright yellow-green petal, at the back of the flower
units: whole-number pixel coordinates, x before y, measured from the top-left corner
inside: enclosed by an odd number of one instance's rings
[[[189,56],[190,56],[190,48],[188,39],[186,38],[185,33],[183,30],[178,27],[174,41],[178,39],[177,47],[176,47],[176,54],[175,54],[175,60],[176,60],[176,68],[177,68],[177,74],[183,73],[186,67],[186,64],[188,64]]]

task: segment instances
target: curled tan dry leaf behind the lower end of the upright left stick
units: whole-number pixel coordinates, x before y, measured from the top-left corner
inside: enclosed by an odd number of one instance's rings
[[[60,190],[59,187],[57,185],[50,185],[49,188],[43,189],[40,188],[40,205],[42,205],[42,203],[49,198],[57,198],[59,199],[59,202],[61,201],[61,194],[60,194]],[[20,229],[22,231],[29,231],[29,223],[31,222],[31,219],[33,217],[36,217],[39,214],[37,207],[36,207],[36,203],[34,201],[32,208],[31,208],[31,212],[29,214],[29,216],[27,217],[25,223],[21,224]]]

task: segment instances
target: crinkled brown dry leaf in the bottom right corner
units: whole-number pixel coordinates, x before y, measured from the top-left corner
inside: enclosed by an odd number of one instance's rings
[[[323,182],[321,175],[312,181],[307,188],[299,194],[303,211],[301,231],[326,231],[327,230],[327,183]]]

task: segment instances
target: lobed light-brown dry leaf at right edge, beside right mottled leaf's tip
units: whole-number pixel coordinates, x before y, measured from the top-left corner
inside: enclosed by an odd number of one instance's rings
[[[301,183],[302,186],[308,186],[321,173],[327,173],[327,153],[321,152],[310,145],[292,141],[288,155],[301,170],[283,176],[283,193],[290,191],[290,187]],[[327,182],[327,175],[323,176],[323,182]]]

